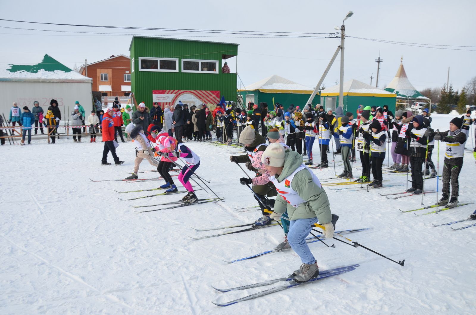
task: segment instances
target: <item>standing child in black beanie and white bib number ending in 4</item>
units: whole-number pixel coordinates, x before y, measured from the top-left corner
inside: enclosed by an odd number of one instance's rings
[[[453,118],[449,123],[448,131],[427,131],[425,134],[426,137],[434,136],[436,141],[446,142],[445,163],[443,166],[443,196],[438,200],[439,205],[446,204],[446,207],[456,207],[458,205],[458,177],[461,167],[463,167],[466,142],[466,134],[461,129],[462,126],[463,120],[461,118]],[[451,199],[449,198],[450,183],[452,187]]]

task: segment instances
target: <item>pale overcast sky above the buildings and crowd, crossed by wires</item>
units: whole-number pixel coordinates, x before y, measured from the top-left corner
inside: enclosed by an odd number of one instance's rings
[[[74,4],[74,5],[73,5]],[[199,30],[247,30],[282,32],[335,32],[349,10],[346,34],[368,39],[385,39],[444,47],[476,49],[476,1],[0,1],[0,18],[37,22],[177,28]],[[191,33],[145,30],[111,30],[52,26],[0,21],[0,66],[8,63],[35,64],[47,53],[70,68],[109,58],[129,55],[131,35],[57,33],[37,30],[130,33],[239,43],[238,74],[245,85],[277,74],[314,87],[332,57],[340,39],[244,38],[248,35],[184,37]],[[182,35],[182,36],[180,36]],[[193,33],[200,36],[201,33]],[[238,37],[236,37],[238,36]],[[435,46],[442,47],[442,46]],[[450,67],[450,83],[461,89],[476,76],[476,50],[429,49],[347,38],[344,79],[370,83],[381,63],[379,87],[384,88],[397,72],[400,57],[408,78],[417,89],[441,87]],[[231,62],[230,62],[231,63]],[[233,62],[234,63],[234,62]],[[231,65],[232,70],[235,68]],[[339,79],[338,59],[324,84]],[[375,85],[375,79],[372,82]]]

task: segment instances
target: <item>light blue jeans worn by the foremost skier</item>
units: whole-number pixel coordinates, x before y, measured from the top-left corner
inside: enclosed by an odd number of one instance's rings
[[[316,261],[305,239],[309,232],[311,232],[313,224],[317,223],[317,221],[317,217],[312,217],[310,219],[297,219],[289,222],[288,242],[301,258],[303,264],[311,265]]]

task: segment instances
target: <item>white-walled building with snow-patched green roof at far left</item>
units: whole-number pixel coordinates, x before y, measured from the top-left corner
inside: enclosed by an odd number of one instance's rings
[[[33,107],[36,100],[46,113],[50,100],[56,99],[63,121],[67,120],[74,102],[79,101],[86,112],[92,109],[92,79],[69,69],[44,55],[36,65],[7,65],[0,68],[0,114],[8,119],[13,102],[18,107]]]

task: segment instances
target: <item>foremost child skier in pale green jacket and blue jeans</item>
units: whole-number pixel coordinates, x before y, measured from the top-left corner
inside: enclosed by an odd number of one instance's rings
[[[278,220],[281,214],[288,211],[288,242],[302,262],[294,272],[294,280],[306,282],[319,275],[317,261],[307,246],[306,236],[317,222],[325,227],[326,238],[334,235],[329,200],[319,179],[302,164],[302,157],[297,152],[285,151],[282,146],[271,144],[264,151],[261,162],[266,165],[271,175],[269,178],[279,192],[272,218]]]

